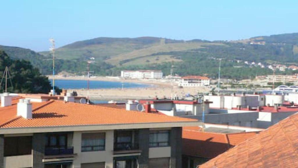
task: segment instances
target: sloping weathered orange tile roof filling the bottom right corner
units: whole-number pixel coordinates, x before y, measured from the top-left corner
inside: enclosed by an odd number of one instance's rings
[[[298,114],[281,120],[199,167],[298,167]]]

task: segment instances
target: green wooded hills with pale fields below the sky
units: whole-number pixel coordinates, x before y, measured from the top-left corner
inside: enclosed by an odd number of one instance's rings
[[[218,59],[222,61],[223,77],[243,79],[270,74],[268,68],[251,68],[234,60],[298,63],[298,33],[259,36],[237,41],[189,41],[158,37],[108,38],[78,41],[56,50],[57,71],[80,74],[86,71],[86,60],[94,57],[91,68],[98,75],[119,75],[122,69],[160,69],[168,74],[172,62],[179,75],[207,74],[216,77]],[[32,59],[33,65],[50,74],[51,56],[48,51],[35,53],[21,48],[0,47],[12,58]],[[43,61],[41,61],[43,60]],[[48,62],[48,63],[45,63]],[[277,72],[278,73],[278,72]],[[292,73],[292,72],[285,72]]]

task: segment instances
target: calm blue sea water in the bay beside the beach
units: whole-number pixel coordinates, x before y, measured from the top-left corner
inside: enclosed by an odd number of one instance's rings
[[[52,83],[52,80],[50,80]],[[142,83],[129,83],[129,82],[111,82],[111,81],[94,81],[90,80],[90,89],[101,88],[145,88],[152,85]],[[87,88],[87,80],[55,80],[55,85],[63,89],[82,89]]]

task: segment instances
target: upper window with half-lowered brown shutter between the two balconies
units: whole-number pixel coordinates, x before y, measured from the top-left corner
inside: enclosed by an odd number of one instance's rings
[[[105,133],[82,134],[82,152],[105,150]]]

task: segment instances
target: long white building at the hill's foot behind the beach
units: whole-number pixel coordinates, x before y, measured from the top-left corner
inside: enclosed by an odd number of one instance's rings
[[[121,77],[131,79],[161,79],[162,76],[162,71],[156,70],[121,71]]]

